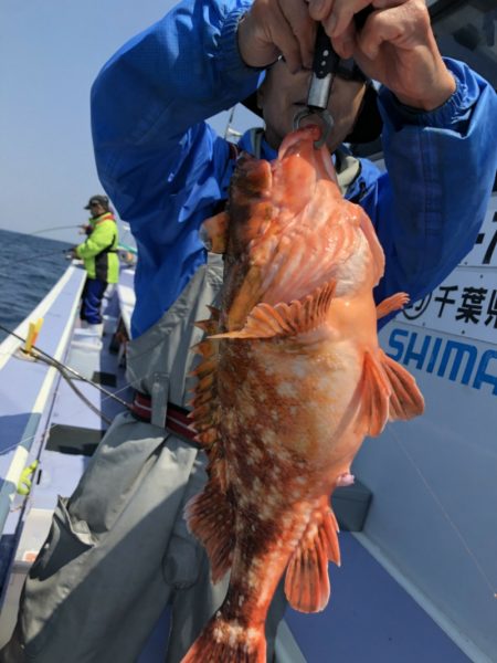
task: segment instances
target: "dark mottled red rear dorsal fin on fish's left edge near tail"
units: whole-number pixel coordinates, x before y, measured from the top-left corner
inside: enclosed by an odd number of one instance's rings
[[[235,546],[234,509],[220,481],[222,476],[225,480],[225,464],[224,459],[210,463],[209,482],[184,508],[189,529],[203,544],[209,555],[214,583],[231,569]]]

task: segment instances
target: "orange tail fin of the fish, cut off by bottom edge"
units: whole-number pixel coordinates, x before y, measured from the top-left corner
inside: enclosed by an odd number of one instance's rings
[[[218,611],[181,663],[266,663],[264,623],[245,628]]]

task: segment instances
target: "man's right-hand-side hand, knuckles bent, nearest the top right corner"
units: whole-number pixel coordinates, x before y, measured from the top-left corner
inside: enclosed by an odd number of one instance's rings
[[[358,32],[353,17],[369,6],[372,12]],[[355,57],[401,103],[432,110],[454,93],[423,0],[309,0],[309,13],[322,22],[339,55]]]

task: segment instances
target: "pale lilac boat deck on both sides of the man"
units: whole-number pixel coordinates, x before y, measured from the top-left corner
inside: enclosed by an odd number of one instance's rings
[[[83,282],[84,272],[70,267],[40,311],[31,316],[45,318],[36,345],[129,400],[121,355],[110,351],[112,334],[101,343],[78,327],[76,311]],[[119,287],[107,299],[107,327],[114,328],[118,316],[128,327],[133,303],[133,272],[125,271]],[[23,324],[18,333],[24,336],[25,329]],[[47,534],[56,495],[72,493],[107,427],[55,369],[17,358],[14,350],[19,345],[20,341],[7,339],[0,355],[2,579],[9,578],[3,585],[0,645],[12,628],[24,575]],[[75,383],[106,418],[112,419],[119,410],[94,387],[81,380]],[[28,498],[21,497],[15,494],[20,474],[36,457],[41,464],[33,488]],[[277,663],[469,661],[355,534],[345,532],[339,540],[342,567],[330,565],[332,597],[328,607],[314,615],[288,609],[277,642]],[[167,632],[168,611],[159,620],[139,663],[163,661]]]

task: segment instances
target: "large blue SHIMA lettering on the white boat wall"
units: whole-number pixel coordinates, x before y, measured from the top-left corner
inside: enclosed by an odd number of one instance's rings
[[[473,389],[489,385],[491,393],[497,396],[497,350],[482,352],[470,343],[399,328],[390,333],[389,346],[389,357],[406,367],[435,372],[438,378]]]

